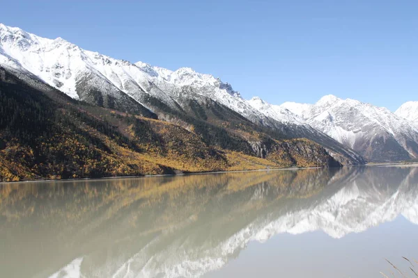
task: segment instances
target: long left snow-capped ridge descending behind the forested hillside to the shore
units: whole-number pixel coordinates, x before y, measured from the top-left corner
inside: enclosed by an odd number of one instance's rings
[[[363,162],[358,154],[314,131],[290,111],[264,113],[254,107],[254,101],[243,99],[229,83],[187,67],[171,71],[142,62],[133,64],[84,50],[62,38],[40,38],[3,24],[0,24],[0,65],[21,76],[34,76],[70,97],[94,105],[142,115],[155,113],[160,119],[174,122],[179,122],[173,120],[176,115],[201,117],[199,111],[204,114],[205,109],[212,109],[215,111],[210,112],[212,117],[218,119],[244,117],[282,137],[314,140],[330,149],[344,164]]]

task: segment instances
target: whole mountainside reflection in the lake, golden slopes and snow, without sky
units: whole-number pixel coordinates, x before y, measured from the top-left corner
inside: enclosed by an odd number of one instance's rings
[[[196,277],[279,233],[340,238],[399,214],[418,223],[417,183],[416,167],[344,167],[4,184],[0,268],[17,277]]]

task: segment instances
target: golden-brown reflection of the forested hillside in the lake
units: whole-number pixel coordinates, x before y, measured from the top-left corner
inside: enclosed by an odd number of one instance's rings
[[[111,238],[109,246],[134,240],[135,252],[162,231],[175,233],[213,218],[222,226],[234,217],[231,213],[248,222],[247,218],[256,217],[254,208],[263,208],[278,197],[309,197],[318,193],[335,172],[313,169],[6,183],[0,186],[0,233],[1,238],[7,238],[4,244],[8,246],[1,250],[10,252],[21,245],[22,250],[29,252],[17,256],[26,256],[28,262],[33,257],[56,260],[56,267],[68,263],[71,256],[94,249],[98,243],[103,245],[105,238]],[[263,196],[265,190],[269,190],[267,196]],[[228,229],[224,228],[226,232]],[[230,233],[233,232],[232,229]],[[28,243],[23,238],[38,240]],[[59,261],[61,255],[57,253],[68,249],[75,254]],[[42,250],[45,253],[41,259],[36,254]],[[38,271],[47,265],[39,263]]]

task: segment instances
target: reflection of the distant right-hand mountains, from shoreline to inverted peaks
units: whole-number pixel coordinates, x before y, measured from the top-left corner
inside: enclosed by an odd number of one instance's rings
[[[258,224],[254,239],[316,230],[341,238],[392,221],[400,214],[417,223],[417,183],[418,169],[415,167],[366,168],[319,202],[304,203],[286,213],[275,213],[274,217]]]

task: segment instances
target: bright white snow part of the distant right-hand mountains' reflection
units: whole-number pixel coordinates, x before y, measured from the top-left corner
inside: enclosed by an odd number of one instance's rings
[[[280,233],[304,234],[318,230],[333,238],[342,238],[392,221],[398,215],[416,223],[418,188],[417,183],[409,182],[405,179],[392,191],[382,190],[378,185],[369,186],[366,181],[354,181],[323,202],[269,222],[258,232],[258,238],[265,240]]]

